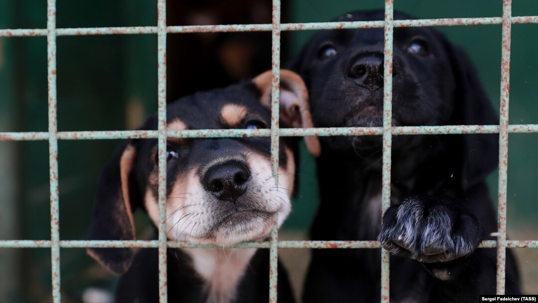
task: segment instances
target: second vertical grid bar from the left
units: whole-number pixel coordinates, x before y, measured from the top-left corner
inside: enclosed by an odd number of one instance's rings
[[[157,2],[159,217],[166,217],[166,0]],[[166,220],[159,220],[159,302],[168,300]]]

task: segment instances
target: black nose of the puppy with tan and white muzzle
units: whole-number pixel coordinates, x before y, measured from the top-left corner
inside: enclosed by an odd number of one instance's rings
[[[243,161],[230,160],[209,167],[203,175],[203,186],[219,200],[235,202],[246,191],[249,167]]]

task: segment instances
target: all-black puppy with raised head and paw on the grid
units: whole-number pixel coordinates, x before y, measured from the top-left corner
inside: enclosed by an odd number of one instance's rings
[[[395,19],[412,19],[395,13]],[[383,11],[338,21],[383,20]],[[315,126],[383,124],[383,29],[319,31],[292,69],[310,92]],[[498,124],[467,56],[428,27],[394,30],[392,124]],[[379,136],[323,137],[315,240],[375,240],[392,252],[391,302],[469,302],[495,293],[497,231],[486,175],[498,135],[394,136],[391,208],[381,224]],[[520,293],[507,252],[506,293]],[[314,250],[305,302],[376,302],[379,250]]]

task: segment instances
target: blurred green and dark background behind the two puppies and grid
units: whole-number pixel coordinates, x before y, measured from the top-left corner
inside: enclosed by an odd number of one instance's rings
[[[282,2],[282,23],[325,22],[383,0]],[[502,0],[395,0],[420,18],[499,17]],[[154,26],[155,0],[57,0],[57,27]],[[538,15],[538,2],[514,0],[513,16]],[[167,3],[168,25],[271,23],[270,0]],[[46,28],[46,2],[0,0],[0,29]],[[465,48],[495,108],[500,99],[501,26],[438,27]],[[283,32],[285,64],[313,32]],[[512,124],[538,123],[538,24],[512,27]],[[58,37],[58,130],[135,129],[157,110],[157,35]],[[47,131],[46,37],[0,37],[0,132]],[[174,101],[226,86],[271,68],[271,33],[168,34],[167,94]],[[60,238],[84,239],[98,173],[117,140],[60,140]],[[511,134],[508,152],[508,236],[538,239],[538,134]],[[305,239],[318,196],[315,166],[303,152],[300,197],[279,233]],[[497,173],[489,178],[497,200]],[[0,239],[50,239],[48,144],[0,142]],[[153,228],[137,212],[139,238]],[[300,291],[308,250],[281,250]],[[538,293],[538,251],[515,249],[524,289]],[[62,302],[107,302],[116,283],[84,249],[61,250]],[[156,282],[155,282],[156,283]],[[51,301],[50,249],[0,249],[0,302]]]

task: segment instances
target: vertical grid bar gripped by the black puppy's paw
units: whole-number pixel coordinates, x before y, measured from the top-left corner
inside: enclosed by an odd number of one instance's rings
[[[381,188],[381,209],[383,213],[391,206],[391,162],[392,162],[392,40],[393,0],[385,0],[385,41],[384,41],[384,84],[383,84],[383,177]],[[390,293],[390,253],[381,249],[381,302],[389,302]]]

